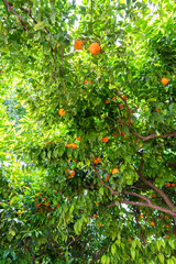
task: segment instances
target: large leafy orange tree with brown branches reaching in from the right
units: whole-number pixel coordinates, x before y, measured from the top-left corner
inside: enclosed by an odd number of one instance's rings
[[[2,0],[2,85],[26,111],[9,147],[45,172],[57,208],[44,249],[19,238],[33,263],[175,263],[173,7]]]

